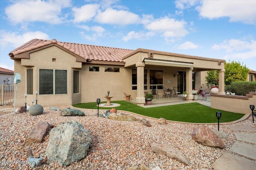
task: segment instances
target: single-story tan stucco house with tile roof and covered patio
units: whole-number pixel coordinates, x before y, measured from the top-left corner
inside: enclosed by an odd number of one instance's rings
[[[20,73],[17,106],[36,99],[42,106],[125,100],[126,94],[144,105],[151,89],[178,87],[192,100],[192,88],[200,88],[201,71],[218,70],[220,94],[224,93],[224,60],[154,51],[32,39],[9,53],[14,72]],[[167,81],[167,80],[171,80]],[[169,83],[168,83],[169,82]],[[31,105],[30,104],[30,105]]]

